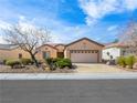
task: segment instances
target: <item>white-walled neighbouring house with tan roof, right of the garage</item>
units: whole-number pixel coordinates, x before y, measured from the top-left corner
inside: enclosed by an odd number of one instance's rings
[[[116,60],[118,56],[125,55],[126,45],[123,43],[106,44],[103,49],[103,60]]]

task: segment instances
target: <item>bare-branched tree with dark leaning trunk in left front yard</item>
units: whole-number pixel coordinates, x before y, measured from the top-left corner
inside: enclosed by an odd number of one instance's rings
[[[39,66],[35,59],[35,54],[38,53],[36,48],[50,41],[50,32],[46,29],[33,25],[24,27],[20,23],[11,25],[3,31],[6,33],[6,41],[28,52],[35,65]]]

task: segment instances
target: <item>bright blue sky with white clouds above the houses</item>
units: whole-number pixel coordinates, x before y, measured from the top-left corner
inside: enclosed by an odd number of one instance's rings
[[[19,22],[46,27],[52,42],[113,42],[136,18],[137,0],[0,0],[0,28]]]

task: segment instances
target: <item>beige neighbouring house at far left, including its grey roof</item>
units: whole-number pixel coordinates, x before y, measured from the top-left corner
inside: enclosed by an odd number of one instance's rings
[[[0,59],[30,58],[29,53],[14,44],[0,44]]]

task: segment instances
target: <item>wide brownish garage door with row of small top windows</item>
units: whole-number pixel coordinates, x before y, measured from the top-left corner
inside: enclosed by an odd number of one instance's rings
[[[96,63],[98,60],[97,50],[72,50],[71,51],[72,62],[77,63]]]

